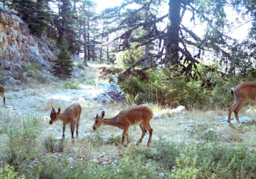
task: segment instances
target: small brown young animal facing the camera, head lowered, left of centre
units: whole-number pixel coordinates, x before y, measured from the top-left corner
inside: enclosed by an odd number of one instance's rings
[[[74,103],[68,108],[66,108],[63,113],[60,113],[61,109],[59,107],[58,112],[54,110],[52,107],[52,111],[50,114],[51,121],[50,124],[53,124],[57,120],[63,121],[63,135],[62,138],[65,138],[65,128],[66,124],[71,123],[71,136],[74,138],[74,126],[77,126],[77,136],[78,136],[78,127],[79,127],[79,121],[80,116],[82,112],[82,108],[80,104]]]

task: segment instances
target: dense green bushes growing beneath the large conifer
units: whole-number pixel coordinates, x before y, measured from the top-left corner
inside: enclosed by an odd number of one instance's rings
[[[242,81],[239,76],[207,72],[200,65],[194,73],[201,74],[196,81],[185,76],[177,77],[166,69],[147,71],[147,80],[141,80],[140,76],[129,77],[120,83],[120,87],[127,99],[136,104],[156,102],[172,107],[214,109],[233,103],[231,89]]]

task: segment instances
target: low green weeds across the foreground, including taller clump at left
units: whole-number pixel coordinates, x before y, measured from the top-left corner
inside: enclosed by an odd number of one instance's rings
[[[101,155],[90,156],[97,151],[100,151],[99,154],[104,152],[103,147],[119,143],[120,136],[111,135],[106,143],[100,138],[100,133],[96,133],[95,138],[86,141],[93,144],[87,145],[89,147],[87,150],[91,154],[88,153],[88,157],[80,153],[74,156],[68,147],[64,149],[63,143],[67,141],[61,141],[59,145],[51,136],[44,138],[44,141],[38,140],[37,135],[41,131],[41,125],[40,122],[35,123],[33,118],[35,119],[35,116],[28,116],[24,120],[20,126],[21,131],[16,130],[17,126],[8,127],[11,145],[5,152],[10,157],[1,158],[1,166],[5,169],[2,169],[2,173],[0,170],[0,176],[6,178],[9,175],[15,176],[13,178],[83,178],[84,176],[87,178],[254,178],[256,176],[255,149],[239,142],[230,146],[223,145],[217,134],[211,130],[202,135],[198,134],[202,132],[201,130],[195,132],[203,140],[193,140],[188,144],[168,143],[160,137],[158,141],[153,142],[153,147],[130,145],[121,148],[120,155],[116,158],[107,158],[105,161],[102,160]],[[19,142],[21,140],[23,142]],[[26,147],[39,143],[43,143],[50,154],[42,155],[37,149],[25,150]],[[58,155],[52,152],[58,152]],[[34,157],[37,157],[36,162]]]

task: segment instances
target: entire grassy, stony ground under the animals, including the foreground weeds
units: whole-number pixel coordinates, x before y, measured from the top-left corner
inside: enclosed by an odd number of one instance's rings
[[[97,91],[98,71],[88,68],[73,90],[63,82],[7,87],[10,108],[0,109],[1,178],[255,178],[255,125],[229,126],[227,108],[172,113],[149,104],[154,112],[150,147],[148,133],[135,145],[139,126],[130,127],[131,144],[122,147],[119,128],[93,131],[97,113],[104,110],[105,117],[112,117],[132,106],[100,104],[88,97]],[[49,124],[51,108],[63,111],[74,102],[82,106],[79,137],[71,140],[67,126],[61,140],[62,122]]]

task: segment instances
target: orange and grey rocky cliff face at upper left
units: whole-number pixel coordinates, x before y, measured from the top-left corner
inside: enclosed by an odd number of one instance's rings
[[[36,62],[49,66],[54,53],[29,28],[17,12],[0,3],[0,64],[1,70],[17,71],[22,63]]]

